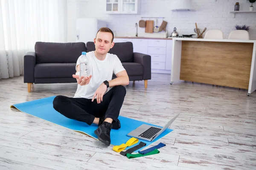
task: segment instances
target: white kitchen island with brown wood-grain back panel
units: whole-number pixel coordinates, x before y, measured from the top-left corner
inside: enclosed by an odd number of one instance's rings
[[[173,38],[171,84],[178,80],[256,90],[256,40]]]

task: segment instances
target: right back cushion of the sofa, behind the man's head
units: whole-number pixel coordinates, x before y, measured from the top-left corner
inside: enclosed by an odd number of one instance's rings
[[[86,43],[87,52],[95,51],[94,42]],[[132,42],[116,42],[109,50],[110,54],[116,54],[121,62],[133,62],[133,45]]]

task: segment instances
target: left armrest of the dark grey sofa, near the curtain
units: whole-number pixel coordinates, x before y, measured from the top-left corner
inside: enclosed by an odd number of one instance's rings
[[[35,52],[28,52],[24,56],[24,83],[34,83]]]

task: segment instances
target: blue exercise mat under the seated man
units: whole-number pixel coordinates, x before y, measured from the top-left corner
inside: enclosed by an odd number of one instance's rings
[[[38,118],[47,120],[49,122],[55,123],[57,125],[66,127],[70,130],[79,131],[82,133],[85,133],[95,139],[97,139],[97,136],[94,134],[94,130],[97,129],[97,125],[87,125],[84,122],[79,122],[77,120],[69,119],[65,116],[63,116],[61,113],[58,113],[55,111],[55,109],[52,106],[52,101],[55,98],[55,96],[33,100],[29,102],[24,102],[20,104],[12,105],[11,107],[15,107],[18,110],[36,116]],[[136,129],[142,124],[152,125],[146,122],[138,121],[135,119],[130,119],[128,117],[119,116],[118,119],[121,122],[121,128],[118,130],[111,129],[111,144],[116,146],[123,143],[126,143],[131,137],[126,136],[127,133],[131,132],[132,130]],[[156,125],[155,125],[156,126]],[[160,127],[160,126],[158,126]],[[172,132],[172,129],[166,129],[160,136],[158,136],[153,142],[156,142],[158,139],[162,138],[163,136],[166,136],[168,133]],[[137,144],[140,142],[146,143],[147,147],[149,144],[152,144],[153,142],[148,142],[144,140],[139,140]],[[131,147],[134,147],[135,145],[132,145]],[[130,147],[126,147],[126,149],[129,149]],[[144,148],[144,147],[143,147]],[[141,148],[140,150],[142,150]],[[136,150],[135,153],[137,153],[139,150]]]

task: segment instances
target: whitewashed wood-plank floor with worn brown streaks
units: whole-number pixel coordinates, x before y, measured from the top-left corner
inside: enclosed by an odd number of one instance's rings
[[[163,126],[180,113],[174,131],[154,143],[166,144],[159,154],[128,159],[96,139],[10,108],[72,97],[76,83],[36,84],[28,93],[23,77],[0,79],[0,170],[255,170],[256,92],[169,80],[152,74],[147,89],[143,81],[126,87],[122,116]]]

